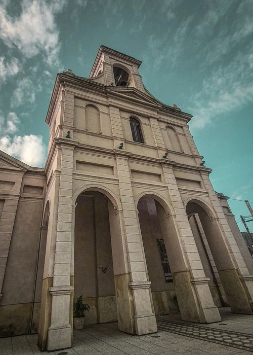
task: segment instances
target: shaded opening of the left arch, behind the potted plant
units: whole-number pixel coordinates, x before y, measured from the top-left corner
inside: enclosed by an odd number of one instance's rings
[[[109,210],[113,218],[114,208],[98,191],[84,192],[76,202],[74,299],[82,295],[83,302],[90,306],[86,324],[113,322],[117,320],[117,308]]]

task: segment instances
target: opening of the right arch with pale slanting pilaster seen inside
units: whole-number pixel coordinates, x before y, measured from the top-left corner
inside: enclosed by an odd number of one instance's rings
[[[197,200],[187,203],[186,212],[214,303],[229,306],[219,272],[234,266],[213,212]]]

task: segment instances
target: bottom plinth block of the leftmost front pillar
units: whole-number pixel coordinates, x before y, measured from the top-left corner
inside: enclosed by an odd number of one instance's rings
[[[60,328],[50,327],[48,331],[49,351],[66,349],[72,346],[72,329],[70,324]]]

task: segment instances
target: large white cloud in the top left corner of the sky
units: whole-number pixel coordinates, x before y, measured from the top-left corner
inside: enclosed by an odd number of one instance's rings
[[[59,65],[59,31],[55,15],[62,11],[65,0],[23,0],[21,14],[12,17],[6,4],[0,6],[0,35],[9,47],[16,47],[26,58],[42,52],[45,61]]]

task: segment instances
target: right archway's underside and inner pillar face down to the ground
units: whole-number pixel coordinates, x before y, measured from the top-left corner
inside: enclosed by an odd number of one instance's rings
[[[212,295],[215,300],[217,291],[223,305],[229,305],[232,312],[251,314],[248,297],[243,288],[239,277],[238,270],[233,262],[229,246],[223,236],[219,226],[219,220],[215,212],[210,209],[203,201],[191,199],[187,202],[186,212],[189,217],[189,222],[192,227],[193,235],[196,239],[201,238],[207,248],[209,248],[209,259],[212,264],[213,274],[217,273],[217,286],[212,290]],[[200,247],[200,245],[199,245]],[[207,253],[207,255],[208,255]],[[199,250],[202,258],[205,258],[204,253]]]

